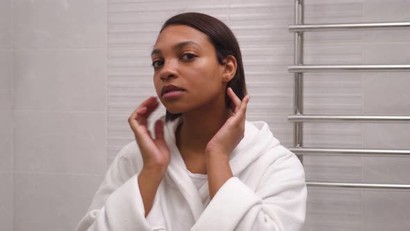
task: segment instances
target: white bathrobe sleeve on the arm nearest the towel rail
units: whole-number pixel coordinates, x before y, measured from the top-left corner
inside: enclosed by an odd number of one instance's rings
[[[300,230],[306,215],[304,169],[295,154],[286,148],[281,152],[256,191],[238,177],[225,182],[191,231]]]

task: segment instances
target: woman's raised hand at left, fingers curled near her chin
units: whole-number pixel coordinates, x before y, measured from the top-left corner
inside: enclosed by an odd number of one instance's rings
[[[164,141],[163,121],[155,122],[155,138],[152,138],[148,127],[147,120],[151,113],[158,107],[156,97],[145,99],[138,108],[133,111],[128,119],[129,125],[133,130],[138,147],[142,155],[145,170],[162,171],[165,173],[168,164],[170,164],[171,154]]]

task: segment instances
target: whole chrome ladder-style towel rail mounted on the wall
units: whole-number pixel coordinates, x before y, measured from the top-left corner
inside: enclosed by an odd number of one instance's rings
[[[303,0],[295,0],[295,24],[289,31],[295,33],[295,61],[288,67],[295,79],[295,110],[288,116],[294,122],[294,148],[303,164],[304,155],[410,157],[410,150],[372,150],[341,148],[304,148],[303,122],[410,122],[410,116],[363,116],[363,115],[306,115],[303,113],[303,73],[304,72],[409,72],[410,65],[304,65],[303,35],[314,31],[410,29],[410,22],[377,22],[356,24],[304,24]],[[308,187],[345,189],[410,189],[410,184],[358,184],[350,182],[306,182]]]

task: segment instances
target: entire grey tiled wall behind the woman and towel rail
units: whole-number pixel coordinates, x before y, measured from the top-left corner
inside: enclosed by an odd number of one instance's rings
[[[410,1],[305,4],[306,23],[410,21]],[[208,13],[231,27],[252,95],[247,118],[268,122],[290,147],[293,10],[288,0],[1,0],[0,230],[73,230],[113,157],[133,141],[126,119],[154,95],[149,52],[176,13]],[[307,64],[410,62],[408,30],[305,38]],[[408,72],[304,79],[306,113],[410,114]],[[312,123],[304,126],[304,145],[410,149],[409,131],[405,124]],[[305,157],[304,165],[307,180],[410,183],[409,158]],[[408,195],[310,189],[303,230],[409,230]]]

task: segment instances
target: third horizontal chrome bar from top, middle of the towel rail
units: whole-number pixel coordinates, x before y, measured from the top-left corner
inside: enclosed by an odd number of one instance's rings
[[[410,122],[410,116],[289,115],[289,122]]]

